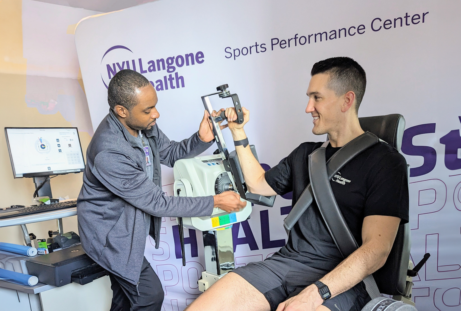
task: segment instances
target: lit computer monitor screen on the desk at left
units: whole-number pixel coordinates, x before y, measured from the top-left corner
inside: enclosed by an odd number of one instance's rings
[[[82,172],[77,128],[5,128],[14,177]]]

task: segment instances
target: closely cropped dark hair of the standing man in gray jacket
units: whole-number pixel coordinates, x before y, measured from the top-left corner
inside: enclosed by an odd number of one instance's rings
[[[131,111],[137,105],[136,89],[149,85],[145,76],[130,69],[118,71],[112,77],[107,89],[107,102],[111,109],[116,105],[124,106]]]

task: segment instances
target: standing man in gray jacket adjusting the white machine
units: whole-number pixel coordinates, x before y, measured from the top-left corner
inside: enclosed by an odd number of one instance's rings
[[[87,150],[78,230],[85,252],[110,272],[111,311],[157,311],[164,292],[144,247],[147,235],[159,247],[161,217],[210,216],[214,207],[234,212],[245,203],[232,191],[196,198],[162,191],[160,164],[172,167],[213,144],[207,111],[198,132],[176,142],[158,128],[157,94],[141,74],[119,71],[109,83],[107,100],[109,114]]]

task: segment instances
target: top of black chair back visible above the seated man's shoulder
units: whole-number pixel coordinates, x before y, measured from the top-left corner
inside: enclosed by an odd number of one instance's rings
[[[379,139],[387,142],[400,151],[402,147],[403,131],[405,130],[405,118],[398,113],[385,116],[359,117],[360,126]]]

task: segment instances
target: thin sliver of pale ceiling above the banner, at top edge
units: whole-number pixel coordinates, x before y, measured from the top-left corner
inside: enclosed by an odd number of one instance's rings
[[[91,11],[112,12],[127,7],[137,6],[155,0],[35,0],[40,2],[57,4],[60,6],[78,7]]]

